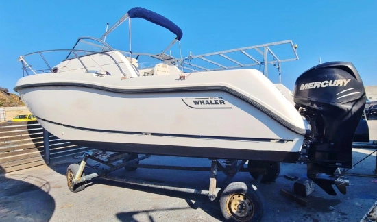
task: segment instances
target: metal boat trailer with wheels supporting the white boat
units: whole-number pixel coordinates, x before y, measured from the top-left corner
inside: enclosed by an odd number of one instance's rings
[[[246,160],[231,159],[225,160],[224,166],[221,163],[223,161],[218,159],[211,160],[211,167],[179,167],[139,164],[139,161],[145,160],[149,157],[151,157],[151,155],[145,154],[139,157],[136,153],[113,153],[108,156],[107,160],[101,160],[96,156],[85,153],[80,164],[71,164],[67,168],[67,185],[69,190],[77,193],[85,189],[85,184],[88,180],[95,177],[101,177],[105,180],[112,180],[126,184],[174,190],[184,193],[208,195],[210,201],[215,201],[215,199],[219,197],[221,212],[227,221],[259,221],[263,217],[264,204],[263,197],[256,186],[260,184],[260,182],[270,182],[275,180],[280,173],[280,163],[278,162],[265,162],[264,164],[250,164],[249,162],[247,169],[244,167]],[[109,168],[103,169],[98,173],[90,173],[89,175],[85,175],[84,168],[86,166],[96,169],[94,166],[87,163],[88,159],[104,164]],[[115,163],[119,160],[122,160],[122,162]],[[210,184],[208,190],[203,190],[202,188],[173,186],[170,184],[108,176],[108,173],[123,167],[127,171],[135,171],[138,167],[185,171],[210,171]],[[98,171],[98,169],[96,170]],[[222,171],[226,175],[226,179],[224,179],[219,186],[217,186],[217,171]],[[232,180],[234,175],[240,171],[249,172],[250,175],[256,179],[256,182],[254,184],[245,184],[243,182],[230,183],[230,180]]]

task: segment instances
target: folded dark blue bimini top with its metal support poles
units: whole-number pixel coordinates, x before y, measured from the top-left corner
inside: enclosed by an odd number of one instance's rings
[[[124,21],[126,21],[128,19],[129,40],[130,40],[130,56],[132,56],[131,18],[143,18],[143,19],[145,19],[145,20],[147,20],[151,23],[165,27],[165,29],[168,29],[170,32],[173,32],[173,34],[175,34],[177,36],[173,40],[173,42],[171,42],[170,45],[164,51],[162,51],[162,53],[160,53],[160,55],[162,55],[168,49],[170,49],[175,44],[175,42],[178,41],[180,43],[180,40],[183,36],[182,29],[180,29],[180,27],[178,27],[178,25],[175,25],[175,23],[173,23],[169,19],[165,18],[164,16],[162,16],[160,14],[157,14],[156,12],[152,12],[151,10],[147,10],[147,9],[141,8],[141,7],[135,7],[135,8],[128,10],[128,12],[125,15],[123,15],[121,17],[121,19],[119,19],[119,21],[114,23],[114,25],[112,25],[112,27],[110,27],[110,29],[108,29],[102,35],[100,40],[105,41],[106,36],[108,36],[108,34],[110,34],[112,31],[114,31],[114,29],[116,29],[119,25],[121,25]],[[180,51],[181,51],[181,47],[180,47]],[[180,54],[182,55],[182,53],[180,53]],[[181,58],[182,58],[182,56],[181,56]]]

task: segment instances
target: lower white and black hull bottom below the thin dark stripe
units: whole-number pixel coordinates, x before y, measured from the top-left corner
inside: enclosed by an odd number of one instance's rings
[[[221,138],[209,136],[137,134],[84,129],[38,119],[52,134],[71,143],[106,151],[149,153],[197,158],[234,158],[295,162],[300,156],[302,140],[268,140],[261,138]],[[80,135],[73,136],[73,135]]]

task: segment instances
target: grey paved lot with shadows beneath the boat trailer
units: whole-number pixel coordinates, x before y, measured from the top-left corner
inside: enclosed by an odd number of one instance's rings
[[[371,139],[377,139],[377,120],[369,121]],[[354,149],[354,163],[371,149]],[[222,221],[218,201],[204,195],[191,195],[156,188],[145,188],[92,180],[80,193],[66,187],[66,167],[77,162],[66,160],[49,167],[34,167],[0,175],[0,221]],[[210,167],[210,161],[197,158],[152,156],[145,164],[172,164]],[[376,154],[369,156],[349,173],[373,176]],[[86,170],[87,171],[87,170]],[[308,206],[279,194],[281,188],[293,190],[293,181],[284,178],[291,174],[306,176],[304,164],[282,164],[276,182],[260,184],[265,199],[263,221],[360,221],[377,200],[377,178],[349,176],[348,193],[329,196],[316,187],[307,197]],[[209,172],[167,171],[159,169],[123,169],[112,175],[165,182],[208,189]],[[219,174],[219,180],[224,176]],[[233,181],[253,183],[249,173],[239,173]]]

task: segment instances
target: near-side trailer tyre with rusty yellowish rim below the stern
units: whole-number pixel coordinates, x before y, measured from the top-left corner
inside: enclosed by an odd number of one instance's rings
[[[223,190],[220,207],[226,221],[260,221],[265,212],[259,190],[243,182],[234,182]]]

